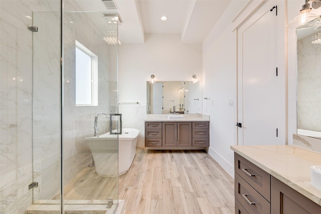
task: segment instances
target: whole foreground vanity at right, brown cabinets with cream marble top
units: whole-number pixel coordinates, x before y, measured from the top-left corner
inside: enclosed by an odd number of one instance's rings
[[[321,154],[295,145],[231,146],[234,151],[235,213],[321,213],[321,190],[310,166]]]

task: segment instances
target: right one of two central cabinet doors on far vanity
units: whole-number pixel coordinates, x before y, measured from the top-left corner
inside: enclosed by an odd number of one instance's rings
[[[177,122],[177,146],[192,146],[192,122]]]

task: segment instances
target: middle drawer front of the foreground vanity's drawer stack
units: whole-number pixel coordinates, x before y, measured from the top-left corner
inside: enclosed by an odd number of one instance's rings
[[[235,173],[235,198],[249,214],[270,214],[271,205],[250,184]]]

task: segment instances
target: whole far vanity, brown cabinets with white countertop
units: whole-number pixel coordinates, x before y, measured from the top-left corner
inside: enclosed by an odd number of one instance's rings
[[[176,117],[177,116],[177,117]],[[203,114],[147,115],[145,146],[164,149],[201,149],[208,147],[210,118]]]

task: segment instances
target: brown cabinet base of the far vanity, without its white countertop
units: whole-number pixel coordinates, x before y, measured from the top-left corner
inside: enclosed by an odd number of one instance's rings
[[[145,122],[145,146],[168,147],[208,147],[208,121]]]

